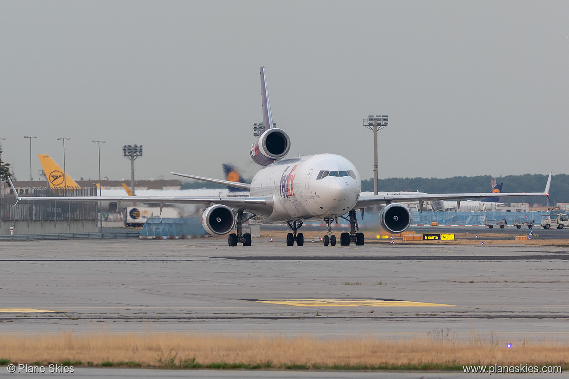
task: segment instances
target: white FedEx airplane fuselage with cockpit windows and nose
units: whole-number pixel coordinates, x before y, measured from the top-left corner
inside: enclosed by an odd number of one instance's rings
[[[348,213],[360,197],[356,167],[336,154],[283,159],[263,167],[251,181],[251,196],[273,197],[268,222],[334,218]]]

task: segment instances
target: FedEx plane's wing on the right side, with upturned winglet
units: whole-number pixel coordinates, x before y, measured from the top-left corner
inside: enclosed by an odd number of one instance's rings
[[[543,192],[519,192],[519,193],[500,193],[500,197],[514,196],[547,196],[549,198],[549,185],[551,183],[551,173],[547,178],[547,184]],[[418,201],[420,205],[427,200],[456,200],[460,206],[461,199],[476,199],[488,197],[488,193],[440,193],[440,194],[424,194],[424,193],[403,193],[403,194],[382,194],[382,195],[361,195],[354,209],[373,207],[375,205],[388,204],[391,202],[407,202]],[[420,206],[422,209],[422,206]]]

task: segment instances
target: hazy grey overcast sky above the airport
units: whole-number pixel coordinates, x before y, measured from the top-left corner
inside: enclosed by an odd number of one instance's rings
[[[68,174],[245,176],[264,65],[289,157],[373,177],[569,173],[567,1],[0,1],[2,158]]]

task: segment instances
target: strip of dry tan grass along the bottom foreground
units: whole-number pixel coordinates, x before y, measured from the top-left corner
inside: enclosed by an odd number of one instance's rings
[[[0,364],[244,367],[244,368],[438,368],[462,365],[561,365],[569,367],[569,346],[553,341],[496,339],[457,341],[443,331],[426,339],[380,340],[311,337],[237,338],[179,333],[38,336],[4,335]],[[225,363],[226,365],[220,365]]]

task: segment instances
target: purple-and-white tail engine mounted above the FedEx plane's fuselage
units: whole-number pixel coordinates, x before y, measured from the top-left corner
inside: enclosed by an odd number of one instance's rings
[[[283,159],[290,150],[290,138],[282,129],[272,128],[263,132],[251,145],[251,158],[266,166]]]

